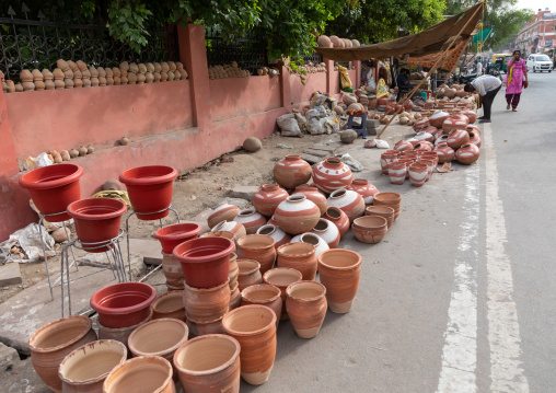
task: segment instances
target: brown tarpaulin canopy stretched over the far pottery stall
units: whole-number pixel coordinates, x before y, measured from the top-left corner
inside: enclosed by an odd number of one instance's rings
[[[475,33],[475,27],[484,8],[485,3],[479,2],[467,11],[437,23],[418,34],[385,43],[362,45],[355,48],[317,47],[315,50],[335,61],[382,59],[406,54],[414,57],[438,54],[448,49],[454,39],[466,42]],[[461,35],[457,36],[460,32]]]

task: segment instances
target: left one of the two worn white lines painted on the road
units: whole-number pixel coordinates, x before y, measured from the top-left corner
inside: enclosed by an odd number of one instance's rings
[[[462,172],[460,172],[462,173]],[[465,169],[462,230],[454,266],[454,288],[448,310],[442,369],[437,392],[477,391],[477,284],[478,224],[480,211],[478,164]]]

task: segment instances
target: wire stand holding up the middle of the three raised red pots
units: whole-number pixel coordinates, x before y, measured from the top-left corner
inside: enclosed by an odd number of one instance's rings
[[[79,239],[76,239],[76,240],[69,242],[62,248],[62,251],[61,251],[61,275],[60,275],[60,278],[61,278],[61,281],[60,281],[60,287],[61,287],[61,316],[62,317],[63,317],[63,311],[65,311],[65,307],[63,307],[63,302],[65,302],[65,298],[63,298],[63,285],[65,285],[63,264],[66,263],[66,276],[67,276],[67,286],[68,286],[68,303],[69,303],[68,309],[69,309],[69,315],[71,315],[71,288],[70,288],[70,282],[77,281],[77,280],[79,280],[81,278],[85,278],[85,277],[89,277],[89,276],[92,276],[92,275],[95,275],[97,273],[101,273],[101,271],[104,271],[104,270],[108,270],[108,269],[112,270],[112,273],[114,275],[114,278],[117,278],[118,282],[126,282],[127,281],[126,264],[124,262],[124,257],[121,256],[121,250],[119,247],[119,240],[120,240],[120,238],[123,235],[124,235],[124,231],[120,229],[119,232],[118,232],[118,235],[116,238],[109,239],[107,241],[105,240],[105,241],[96,242],[96,243],[83,243]],[[83,276],[70,278],[70,264],[69,264],[68,248],[71,248],[71,247],[76,247],[76,248],[79,248],[79,250],[82,250],[82,251],[88,251],[88,252],[91,252],[91,251],[94,251],[94,250],[99,250],[99,248],[104,248],[103,252],[105,253],[106,258],[108,259],[108,266],[105,267],[105,268],[99,269],[96,271],[89,273],[89,274],[83,275]],[[106,250],[106,248],[108,248],[108,250]],[[112,254],[112,259],[109,257],[109,254]],[[74,263],[76,262],[73,261],[73,264]],[[76,264],[76,266],[77,266],[77,264]],[[131,276],[131,265],[129,265],[129,276]]]

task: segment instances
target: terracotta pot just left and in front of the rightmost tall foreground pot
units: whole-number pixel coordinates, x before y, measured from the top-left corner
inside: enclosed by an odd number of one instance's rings
[[[326,287],[315,281],[299,281],[286,289],[286,310],[301,338],[316,337],[326,316]]]

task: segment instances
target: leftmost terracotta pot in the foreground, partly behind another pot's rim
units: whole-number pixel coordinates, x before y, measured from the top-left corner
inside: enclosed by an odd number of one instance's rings
[[[28,339],[31,362],[43,382],[56,392],[61,391],[58,368],[74,349],[96,340],[91,320],[71,315],[47,323]]]

